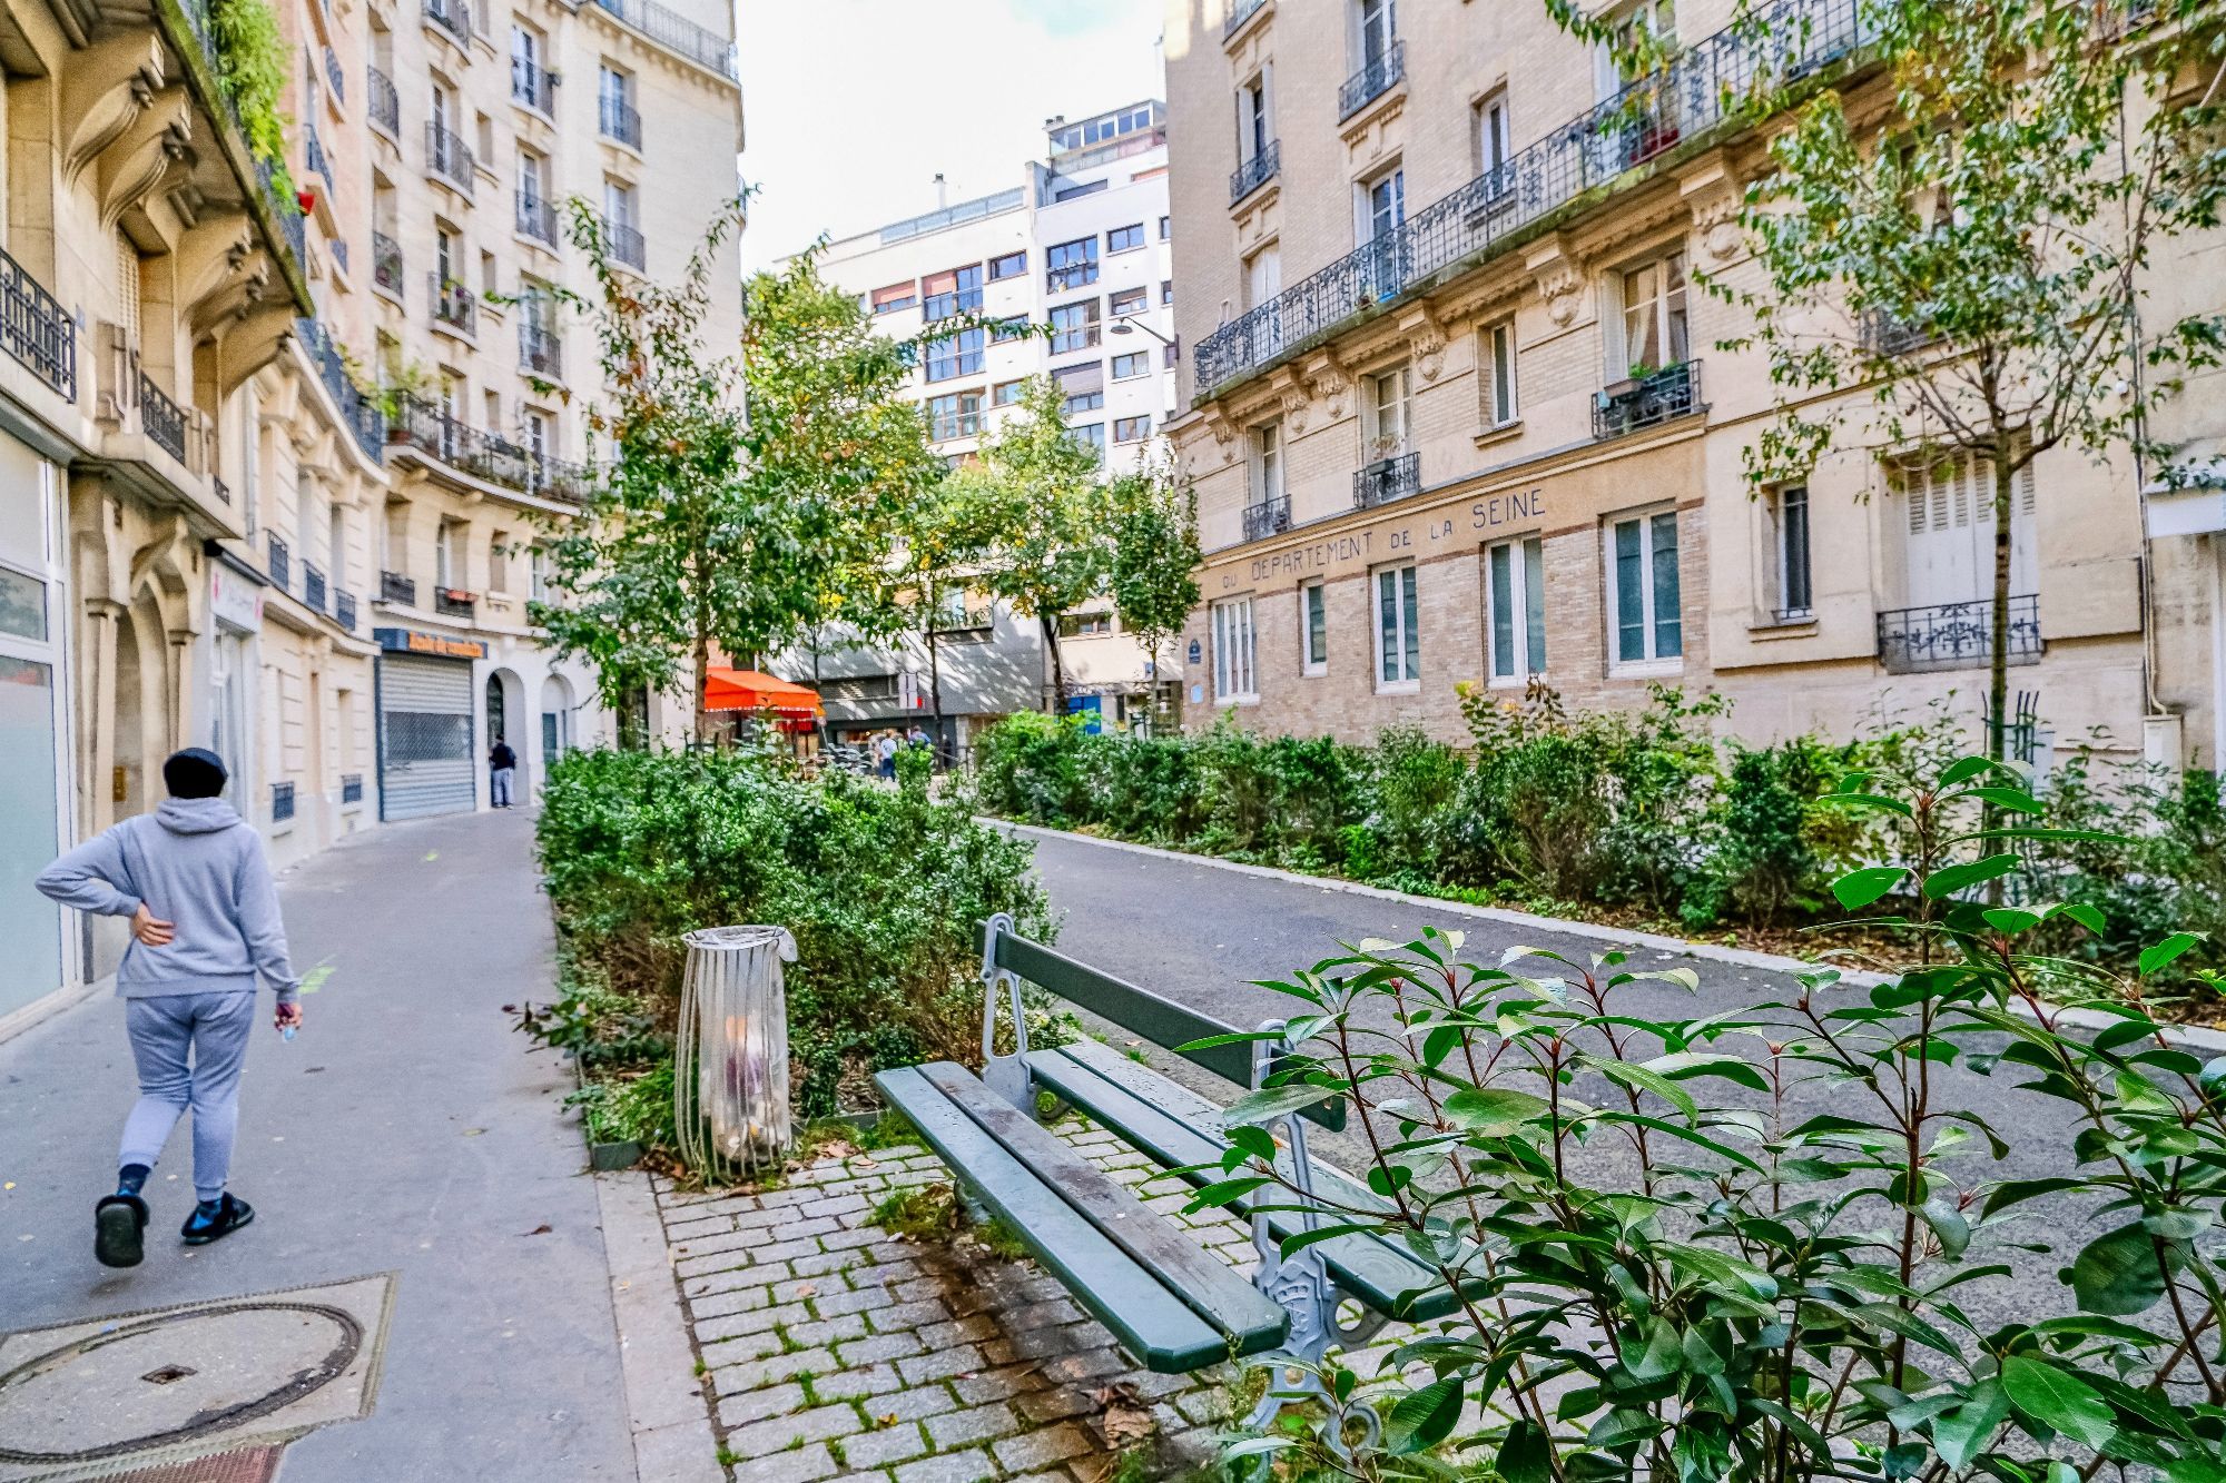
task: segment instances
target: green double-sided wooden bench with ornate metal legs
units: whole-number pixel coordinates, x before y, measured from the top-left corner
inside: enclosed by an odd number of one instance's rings
[[[982,1076],[937,1062],[881,1071],[875,1084],[919,1127],[959,1185],[1011,1225],[1075,1300],[1149,1369],[1182,1374],[1267,1352],[1313,1365],[1333,1345],[1367,1343],[1391,1318],[1427,1320],[1456,1307],[1431,1267],[1378,1236],[1333,1236],[1282,1258],[1278,1243],[1309,1225],[1311,1216],[1264,1209],[1293,1202],[1273,1187],[1229,1207],[1251,1218],[1260,1254],[1251,1280],[1202,1251],[1120,1180],[1044,1131],[1035,1107],[1037,1091],[1051,1091],[1162,1169],[1184,1169],[1195,1185],[1215,1176],[1193,1165],[1213,1165],[1229,1149],[1222,1109],[1095,1040],[1031,1049],[1020,984],[1026,980],[1240,1087],[1262,1084],[1287,1049],[1282,1042],[1182,1051],[1184,1044],[1238,1031],[1020,937],[1008,915],[984,924],[982,978]],[[1011,1053],[997,1053],[999,1006],[1013,1027]],[[1282,1024],[1264,1029],[1280,1031]],[[1367,1185],[1307,1153],[1309,1120],[1342,1127],[1345,1104],[1316,1104],[1269,1129],[1287,1151],[1284,1176],[1302,1196],[1320,1191],[1340,1205],[1380,1209],[1382,1200]],[[1340,1318],[1347,1303],[1358,1305],[1358,1323]],[[1309,1372],[1280,1372],[1253,1425],[1267,1425],[1282,1405],[1316,1394],[1318,1385]],[[1373,1414],[1358,1418],[1376,1427]]]

